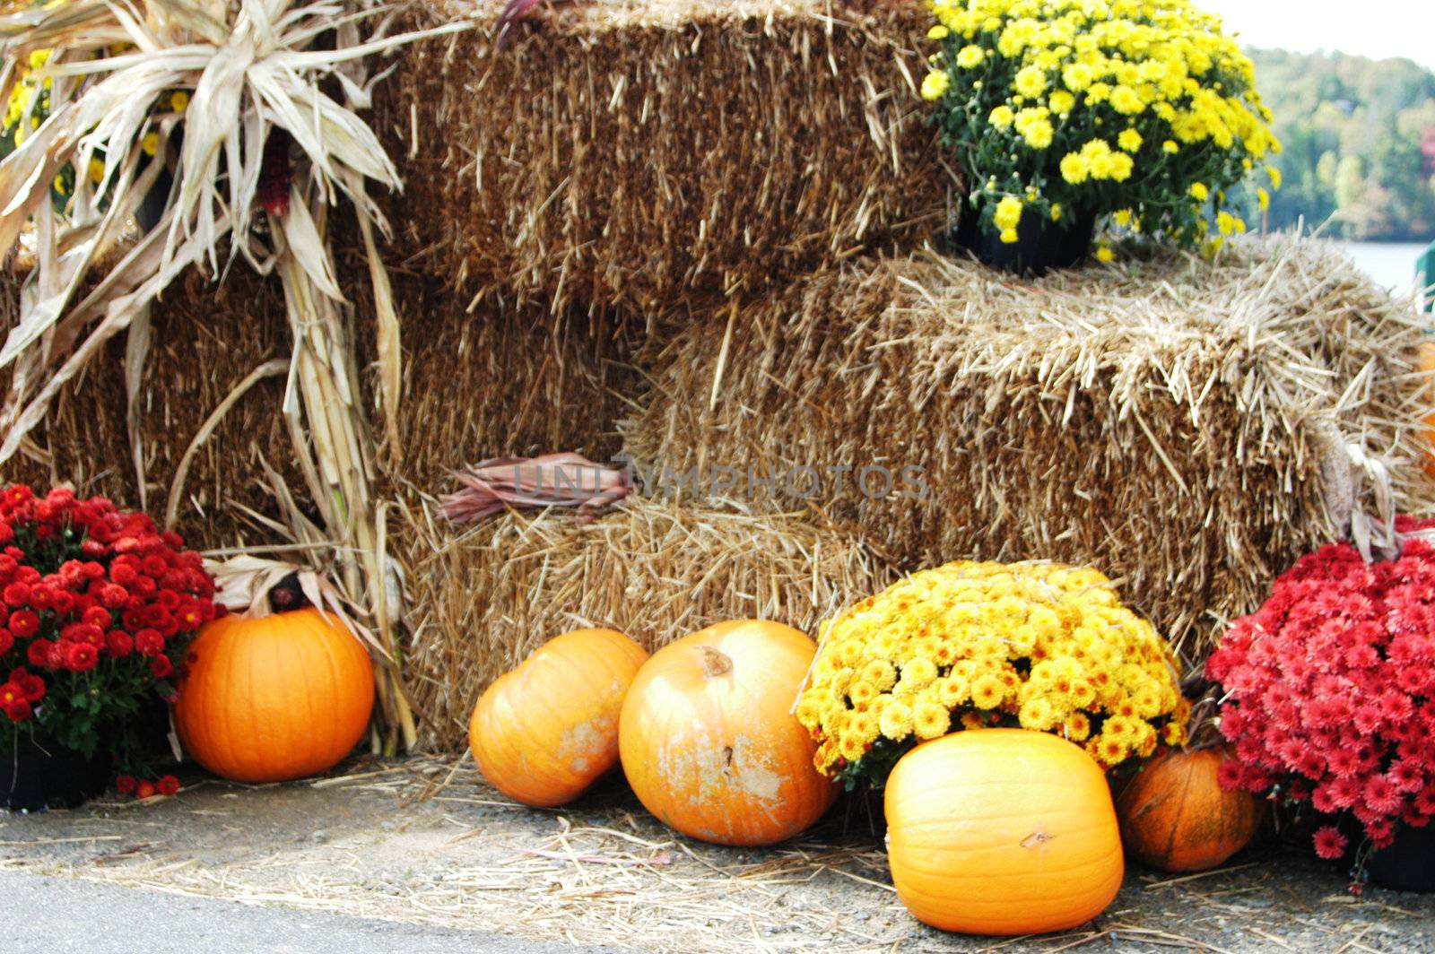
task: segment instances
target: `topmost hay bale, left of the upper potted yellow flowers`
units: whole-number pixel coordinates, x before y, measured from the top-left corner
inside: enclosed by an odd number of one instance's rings
[[[650,311],[946,219],[918,4],[554,4],[495,53],[499,7],[406,13],[478,29],[406,49],[375,99],[405,247],[466,294]]]

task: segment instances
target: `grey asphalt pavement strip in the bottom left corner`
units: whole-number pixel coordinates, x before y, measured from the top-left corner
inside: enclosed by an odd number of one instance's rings
[[[617,954],[0,871],[3,954]]]

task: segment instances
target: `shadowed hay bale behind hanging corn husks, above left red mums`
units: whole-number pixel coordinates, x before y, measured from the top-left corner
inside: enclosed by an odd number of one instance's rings
[[[0,275],[0,323],[14,324],[24,263]],[[141,446],[148,495],[162,516],[169,485],[189,442],[210,413],[253,369],[288,353],[284,298],[277,283],[235,268],[215,284],[187,271],[151,311],[152,343],[141,393]],[[44,423],[33,432],[47,462],[17,455],[0,479],[47,486],[69,481],[82,493],[103,493],[123,506],[141,506],[131,458],[125,392],[125,336],[56,399]],[[9,370],[0,373],[9,389]],[[248,390],[189,465],[178,529],[191,545],[237,542],[245,521],[235,504],[261,512],[260,461],[301,486],[288,433],[280,416],[284,379],[270,377]]]

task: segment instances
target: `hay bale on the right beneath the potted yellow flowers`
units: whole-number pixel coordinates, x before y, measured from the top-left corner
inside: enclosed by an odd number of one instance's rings
[[[1345,442],[1421,459],[1422,333],[1313,241],[1030,283],[931,254],[864,260],[729,329],[682,323],[649,359],[626,445],[649,492],[695,502],[695,466],[815,468],[798,502],[903,568],[1095,564],[1201,657],[1337,532],[1362,486]],[[891,492],[880,471],[860,486],[862,468],[885,468]],[[1419,468],[1392,473],[1402,509],[1429,505]]]

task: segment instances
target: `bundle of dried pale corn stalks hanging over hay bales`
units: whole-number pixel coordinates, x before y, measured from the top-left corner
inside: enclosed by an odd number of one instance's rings
[[[465,24],[386,37],[380,22],[364,40],[360,26],[383,11],[366,0],[63,0],[0,17],[0,88],[10,88],[23,63],[50,85],[47,115],[36,115],[33,131],[0,162],[0,254],[32,219],[36,231],[36,267],[0,347],[0,367],[13,364],[0,463],[22,450],[39,453],[29,432],[66,382],[126,329],[133,329],[126,377],[139,380],[148,307],[184,268],[207,264],[217,273],[243,257],[264,274],[277,271],[294,336],[284,413],[336,547],[337,582],[389,647],[376,666],[389,724],[383,747],[393,750],[399,735],[412,743],[413,723],[397,676],[382,515],[369,492],[375,448],[326,218],[347,199],[364,240],[389,452],[397,455],[399,329],[375,241],[387,222],[366,182],[395,189],[400,182],[356,113],[369,105],[363,59]],[[47,60],[33,63],[40,50],[50,52]],[[56,211],[52,184],[66,168],[80,174]],[[123,248],[132,217],[166,179],[158,224]],[[116,264],[76,300],[116,247]],[[298,508],[287,511],[307,524]]]

